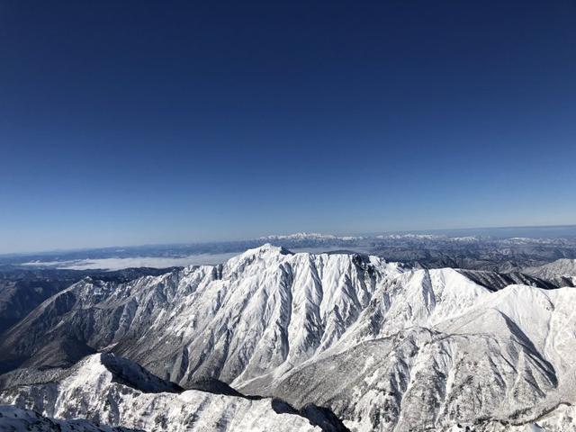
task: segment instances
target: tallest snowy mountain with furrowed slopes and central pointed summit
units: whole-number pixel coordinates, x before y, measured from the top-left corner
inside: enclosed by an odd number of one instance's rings
[[[4,370],[49,344],[112,349],[175,383],[231,383],[299,365],[340,338],[399,266],[376,257],[259,247],[224,266],[128,284],[85,279],[44,302],[0,345]],[[31,359],[31,360],[30,360]]]

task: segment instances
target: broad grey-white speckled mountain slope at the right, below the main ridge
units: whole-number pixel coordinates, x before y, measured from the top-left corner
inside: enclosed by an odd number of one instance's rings
[[[428,329],[325,354],[268,392],[329,406],[363,431],[506,430],[546,416],[546,430],[575,430],[569,415],[550,414],[576,401],[575,302],[571,288],[512,285]]]

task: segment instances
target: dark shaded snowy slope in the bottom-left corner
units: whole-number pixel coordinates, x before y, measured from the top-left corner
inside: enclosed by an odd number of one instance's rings
[[[137,432],[136,429],[110,428],[82,419],[49,419],[35,411],[22,410],[11,405],[0,405],[0,430],[10,432]]]

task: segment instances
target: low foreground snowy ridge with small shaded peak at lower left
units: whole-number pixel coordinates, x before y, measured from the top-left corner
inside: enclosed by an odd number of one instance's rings
[[[320,431],[308,419],[276,413],[269,399],[173,392],[169,383],[113,355],[88,356],[49,379],[37,375],[36,381],[0,392],[0,401],[58,419],[147,431]]]

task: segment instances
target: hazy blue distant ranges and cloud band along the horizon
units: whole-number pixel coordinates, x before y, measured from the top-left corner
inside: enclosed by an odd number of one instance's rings
[[[576,257],[576,226],[459,229],[361,236],[300,232],[241,241],[106,247],[0,256],[0,277],[14,269],[121,270],[131,267],[215,265],[267,242],[294,252],[375,255],[409,266],[515,271]]]

